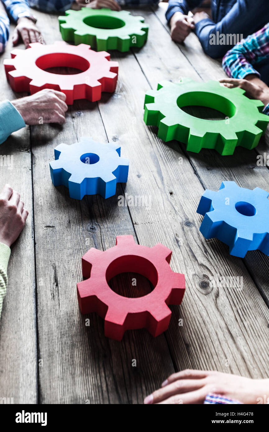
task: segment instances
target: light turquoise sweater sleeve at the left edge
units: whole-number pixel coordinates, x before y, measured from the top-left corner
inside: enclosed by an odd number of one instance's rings
[[[0,102],[0,144],[6,141],[10,133],[25,127],[18,110],[9,101]]]

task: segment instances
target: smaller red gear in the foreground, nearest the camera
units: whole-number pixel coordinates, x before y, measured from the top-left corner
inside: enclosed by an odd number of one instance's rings
[[[184,274],[171,270],[171,255],[161,243],[153,248],[136,245],[132,235],[117,236],[116,246],[104,252],[91,248],[82,257],[82,274],[89,279],[77,284],[82,314],[97,312],[104,318],[104,334],[111,339],[121,340],[125,330],[143,327],[158,336],[169,325],[167,305],[179,305],[185,292]],[[139,298],[112,291],[111,278],[131,271],[146,276],[153,291]]]

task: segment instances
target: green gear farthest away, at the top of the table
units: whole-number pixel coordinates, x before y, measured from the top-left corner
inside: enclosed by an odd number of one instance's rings
[[[149,26],[142,16],[133,16],[127,10],[110,9],[66,10],[59,16],[60,32],[64,41],[75,45],[88,44],[97,51],[129,51],[142,47],[147,40]]]

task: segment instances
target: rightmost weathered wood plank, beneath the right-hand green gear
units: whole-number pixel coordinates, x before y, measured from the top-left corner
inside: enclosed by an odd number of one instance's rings
[[[165,9],[166,5],[161,3],[161,8],[156,11],[156,15],[168,31],[164,16]],[[171,44],[173,44],[173,42],[171,42]],[[224,70],[222,70],[221,62],[212,60],[203,53],[203,49],[196,35],[190,34],[184,44],[178,44],[177,46],[173,44],[173,46],[174,55],[171,60],[172,68],[166,71],[170,73],[172,70],[170,75],[172,80],[177,79],[176,74],[173,73],[173,66],[177,63],[177,59],[183,58],[182,54],[191,61],[193,67],[199,74],[199,76],[196,77],[197,80],[199,80],[199,77],[207,81],[208,79],[218,79],[226,76]],[[177,47],[179,50],[177,50]],[[203,60],[201,61],[201,59]],[[150,76],[152,76],[151,72],[152,71],[149,70]],[[184,76],[187,76],[187,74],[185,73]],[[157,74],[155,74],[151,81],[153,88],[155,88],[158,79],[163,79],[162,75],[159,74],[159,76],[157,76]],[[185,146],[182,145],[181,148],[184,150]],[[238,148],[233,156],[222,157],[216,152],[203,150],[199,153],[199,156],[188,152],[188,157],[205,188],[218,190],[222,180],[234,180],[242,187],[248,187],[250,189],[261,187],[269,191],[268,167],[257,166],[257,155],[263,155],[264,152],[269,154],[269,129],[267,129],[265,136],[261,138],[259,145],[251,152]],[[266,305],[269,307],[268,257],[259,251],[251,251],[248,252],[244,262]]]

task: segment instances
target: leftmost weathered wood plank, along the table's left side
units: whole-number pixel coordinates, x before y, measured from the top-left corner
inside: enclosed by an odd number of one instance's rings
[[[11,34],[13,28],[12,25]],[[3,60],[10,57],[11,49],[9,40],[6,52],[0,57],[1,100],[22,96],[13,93],[6,81]],[[13,157],[12,169],[3,165],[4,159],[1,159],[0,188],[9,183],[21,194],[25,208],[29,210],[25,228],[12,246],[9,260],[7,294],[0,319],[0,397],[13,397],[13,403],[36,403],[35,256],[29,127],[13,133],[1,144],[0,155]]]

